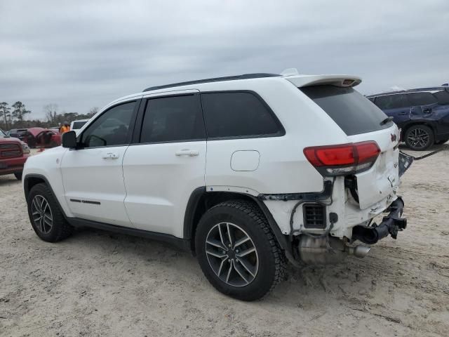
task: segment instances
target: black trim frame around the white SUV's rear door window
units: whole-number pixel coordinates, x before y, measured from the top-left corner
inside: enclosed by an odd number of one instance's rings
[[[140,109],[137,116],[137,121],[135,123],[135,128],[133,132],[133,137],[130,142],[130,146],[135,145],[149,145],[149,144],[170,144],[170,143],[190,143],[190,142],[201,142],[206,141],[207,139],[207,132],[206,136],[204,138],[194,138],[194,139],[184,139],[184,140],[164,140],[160,142],[145,142],[140,143],[140,136],[142,135],[142,127],[143,127],[143,119],[145,118],[145,110],[147,109],[147,104],[149,100],[156,100],[158,98],[169,98],[169,97],[180,97],[180,96],[198,96],[200,108],[201,108],[201,115],[203,117],[203,124],[204,128],[206,130],[206,122],[204,121],[204,113],[203,113],[203,106],[201,102],[201,97],[199,96],[199,92],[189,92],[189,93],[170,93],[168,95],[152,95],[149,97],[142,98],[142,103],[140,104]]]

